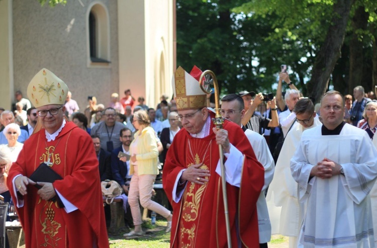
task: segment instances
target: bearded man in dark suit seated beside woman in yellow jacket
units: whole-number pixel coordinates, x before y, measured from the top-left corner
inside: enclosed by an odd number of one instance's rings
[[[132,132],[127,127],[120,131],[120,140],[122,145],[115,148],[111,153],[111,170],[113,179],[122,186],[126,195],[128,195],[128,187],[130,185],[131,177],[128,175],[129,163],[126,157],[118,157],[119,152],[124,152],[130,155],[130,144],[132,141]]]

